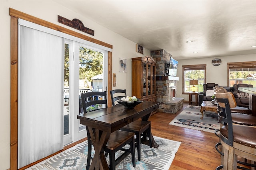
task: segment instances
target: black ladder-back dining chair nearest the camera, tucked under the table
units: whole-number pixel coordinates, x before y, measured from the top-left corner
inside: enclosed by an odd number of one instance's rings
[[[81,93],[81,98],[82,98],[82,106],[84,109],[84,114],[90,114],[90,111],[95,111],[98,109],[108,107],[106,91]],[[88,138],[88,156],[87,156],[86,169],[88,170],[90,167],[90,160],[92,159],[93,143],[92,143],[91,136],[87,126],[86,126],[86,131],[87,131],[87,138]],[[135,133],[133,132],[120,131],[120,130],[114,131],[110,134],[110,137],[106,144],[106,148],[104,149],[104,151],[109,154],[110,170],[114,170],[115,166],[119,162],[121,162],[125,152],[130,152],[132,154],[132,165],[133,167],[136,166],[134,135]],[[124,148],[124,146],[127,144],[130,145],[129,149]],[[115,153],[118,150],[122,150],[124,151],[124,153],[121,154],[118,158],[115,158]]]

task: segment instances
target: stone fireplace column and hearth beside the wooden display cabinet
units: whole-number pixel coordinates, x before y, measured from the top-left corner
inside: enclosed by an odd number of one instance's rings
[[[170,60],[172,55],[163,49],[151,51],[150,55],[156,61],[156,76],[165,76],[165,64]],[[175,82],[175,80],[156,80],[156,100],[161,103],[158,111],[176,113],[183,107],[184,98],[176,98],[172,101],[166,102],[168,100],[167,86],[172,82]]]

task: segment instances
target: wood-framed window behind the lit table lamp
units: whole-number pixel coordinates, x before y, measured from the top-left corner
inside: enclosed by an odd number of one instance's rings
[[[190,80],[198,80],[198,85],[195,85],[198,90],[197,92],[203,92],[203,84],[206,82],[206,64],[200,65],[186,65],[183,68],[183,94],[192,92],[191,87],[193,85],[189,84]]]

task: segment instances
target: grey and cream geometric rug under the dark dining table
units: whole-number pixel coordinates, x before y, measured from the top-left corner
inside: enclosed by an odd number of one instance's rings
[[[168,170],[172,164],[181,142],[155,137],[158,149],[141,144],[141,159],[138,161],[137,149],[135,149],[136,167],[132,166],[131,154],[126,156],[116,170]],[[54,155],[26,170],[86,170],[87,140],[70,149]],[[129,146],[129,145],[128,145]],[[122,151],[116,152],[116,157]],[[94,150],[92,149],[92,156]],[[109,155],[109,154],[108,154]],[[106,158],[109,164],[109,158]]]

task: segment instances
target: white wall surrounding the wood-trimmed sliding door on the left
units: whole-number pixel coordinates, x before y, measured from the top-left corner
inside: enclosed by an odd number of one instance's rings
[[[89,4],[88,4],[89,5]],[[150,51],[145,49],[144,55],[136,52],[136,44],[116,33],[98,25],[97,23],[56,4],[52,0],[0,0],[0,170],[10,168],[10,16],[9,8],[35,16],[42,20],[61,25],[73,31],[82,33],[94,39],[113,45],[112,72],[116,73],[116,87],[126,88],[127,95],[131,95],[131,64],[134,57],[150,56]],[[58,23],[57,16],[69,20],[78,18],[84,25],[95,31],[95,36],[72,29]],[[126,73],[119,72],[119,58],[127,59]]]

